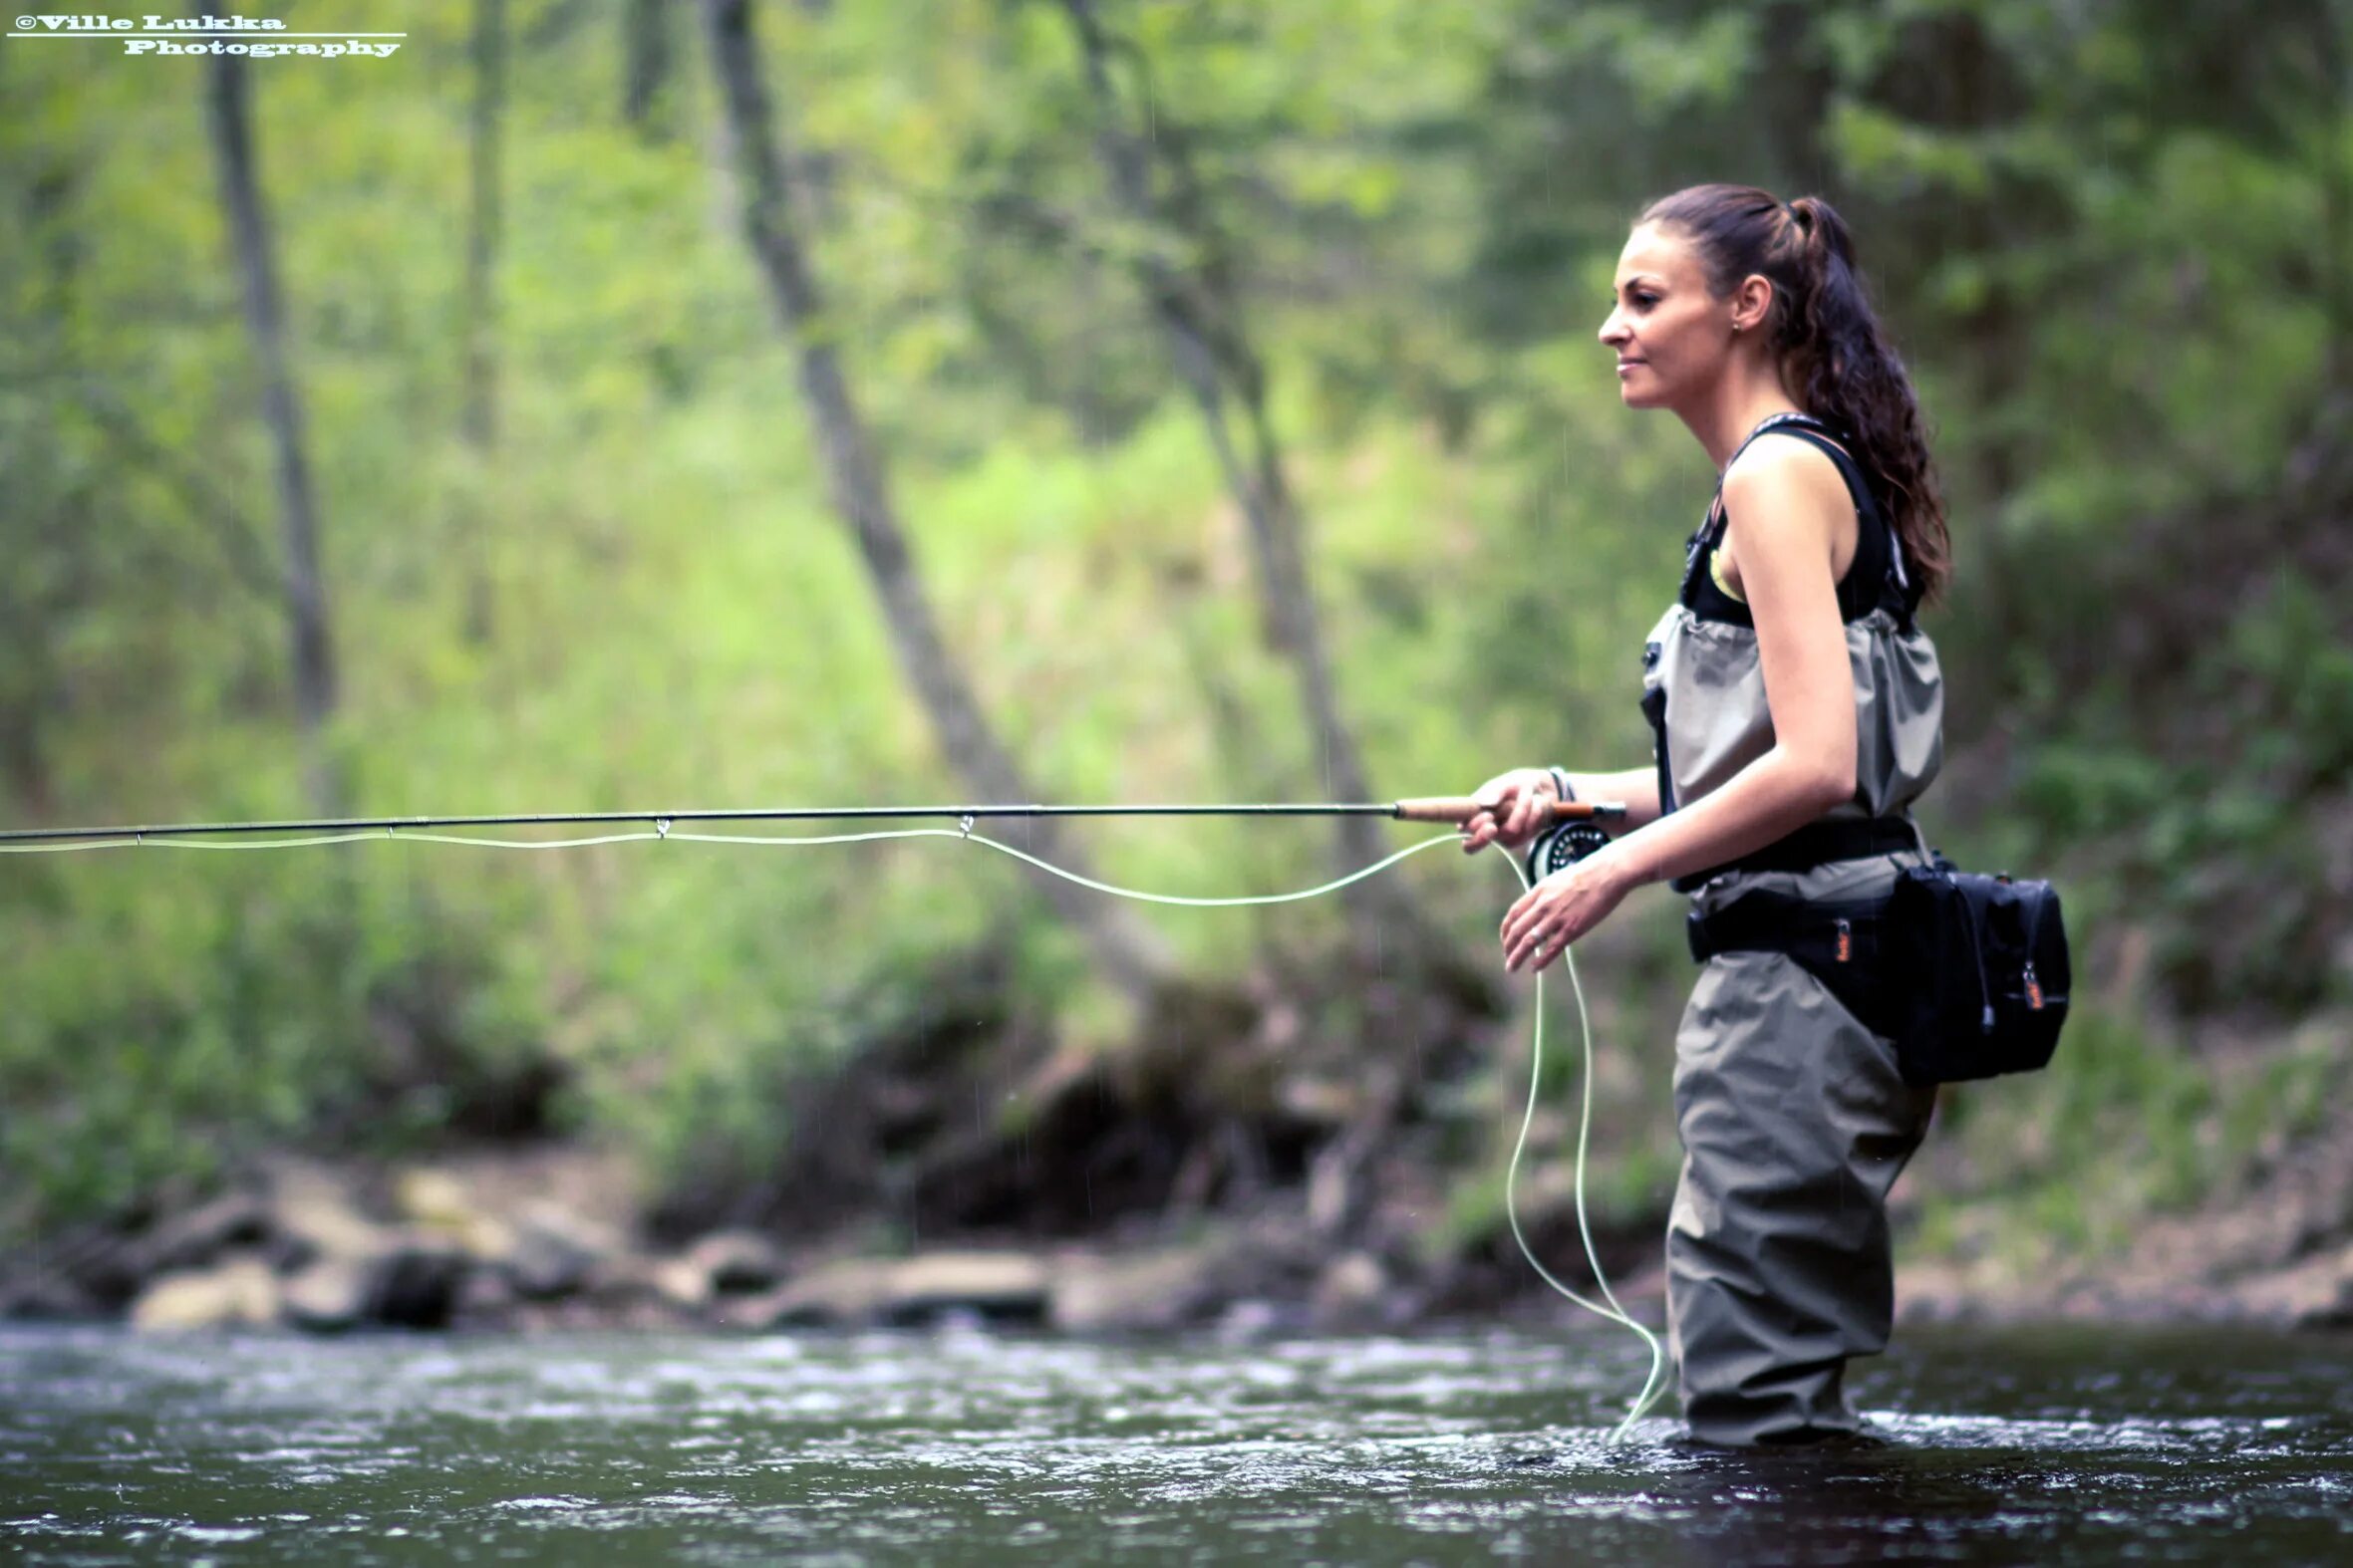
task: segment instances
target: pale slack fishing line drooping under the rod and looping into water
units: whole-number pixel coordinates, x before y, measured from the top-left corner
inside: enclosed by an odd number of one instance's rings
[[[369,842],[416,842],[416,844],[456,844],[466,849],[588,849],[593,844],[642,844],[642,842],[682,842],[682,844],[748,844],[748,846],[814,846],[814,844],[873,844],[880,839],[960,839],[993,849],[1002,856],[1012,856],[1026,865],[1035,865],[1042,872],[1061,877],[1064,882],[1075,882],[1078,886],[1094,889],[1096,893],[1111,893],[1113,898],[1134,898],[1139,903],[1162,903],[1184,905],[1195,910],[1235,910],[1249,905],[1273,905],[1273,903],[1301,903],[1306,898],[1322,898],[1325,893],[1337,893],[1344,886],[1377,877],[1391,865],[1419,856],[1426,849],[1438,849],[1440,844],[1461,844],[1459,835],[1445,832],[1421,844],[1407,844],[1393,856],[1374,860],[1372,865],[1337,877],[1332,882],[1299,889],[1294,893],[1249,893],[1242,898],[1188,898],[1181,893],[1153,893],[1146,889],[1127,889],[1111,882],[1096,882],[1094,877],[1082,877],[1073,870],[1064,870],[1052,860],[1040,860],[1038,856],[1014,849],[1012,844],[1000,844],[986,835],[972,832],[972,816],[962,818],[960,827],[889,827],[878,832],[828,832],[812,837],[779,837],[779,835],[746,835],[746,832],[680,832],[673,818],[654,818],[652,832],[609,832],[588,839],[487,839],[475,835],[449,835],[449,832],[416,832],[398,830],[386,825],[381,832],[336,832],[336,835],[313,835],[299,839],[259,839],[240,844],[207,844],[202,839],[181,837],[146,837],[134,832],[132,837],[113,839],[78,839],[78,842],[40,842],[40,844],[0,844],[0,853],[12,856],[38,856],[38,853],[66,853],[78,849],[195,849],[195,851],[247,851],[247,849],[304,849],[313,844],[369,844]],[[1504,856],[1511,875],[1527,891],[1532,884],[1527,872],[1520,867],[1515,856]],[[1527,1110],[1520,1114],[1520,1133],[1511,1145],[1511,1161],[1504,1168],[1504,1218],[1511,1222],[1511,1239],[1520,1246],[1520,1255],[1527,1258],[1527,1267],[1537,1272],[1546,1286],[1558,1291],[1572,1305],[1584,1307],[1593,1316],[1621,1324],[1633,1331],[1642,1347],[1649,1349],[1649,1373],[1642,1378],[1642,1389],[1635,1394],[1633,1406],[1626,1410],[1624,1420],[1609,1429],[1607,1443],[1621,1441],[1633,1425],[1649,1410],[1652,1403],[1666,1392],[1666,1347],[1659,1345],[1659,1335],[1645,1328],[1633,1314],[1619,1305],[1617,1293],[1609,1288],[1609,1276],[1602,1272],[1600,1248],[1593,1244],[1593,1222],[1586,1211],[1586,1150],[1593,1135],[1593,1016],[1586,1011],[1586,987],[1577,976],[1577,954],[1565,947],[1560,952],[1562,966],[1569,971],[1569,992],[1577,997],[1577,1025],[1584,1048],[1584,1084],[1577,1107],[1577,1161],[1574,1161],[1574,1211],[1577,1211],[1577,1237],[1586,1251],[1586,1265],[1593,1269],[1593,1284],[1600,1286],[1600,1300],[1579,1295],[1567,1284],[1562,1284],[1544,1260],[1537,1258],[1537,1248],[1529,1246],[1527,1232],[1520,1227],[1520,1161],[1527,1154],[1527,1135],[1537,1121],[1537,1095],[1544,1088],[1544,971],[1537,971],[1537,999],[1534,999],[1534,1027],[1529,1030],[1527,1056]]]

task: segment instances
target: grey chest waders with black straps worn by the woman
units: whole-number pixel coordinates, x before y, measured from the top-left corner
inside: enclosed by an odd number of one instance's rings
[[[1760,891],[1826,914],[1882,898],[1901,865],[1927,860],[1906,809],[1944,762],[1937,649],[1913,625],[1918,599],[1894,531],[1819,421],[1777,416],[1748,440],[1767,430],[1819,447],[1854,498],[1861,538],[1838,588],[1854,668],[1854,797],[1779,844],[1680,877],[1694,922]],[[1718,491],[1682,592],[1642,654],[1661,811],[1718,790],[1774,743],[1755,623],[1708,578],[1720,503]],[[1798,959],[1767,947],[1706,950],[1675,1032],[1685,1161],[1666,1237],[1668,1338],[1685,1420],[1708,1443],[1861,1427],[1845,1368],[1887,1347],[1887,1190],[1934,1107],[1934,1088],[1897,1072],[1887,1039]],[[1694,952],[1704,952],[1697,936]]]

